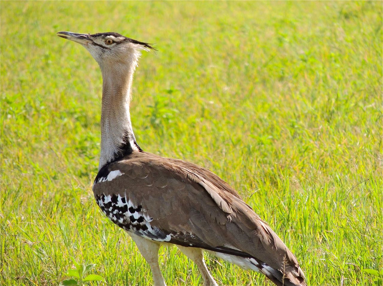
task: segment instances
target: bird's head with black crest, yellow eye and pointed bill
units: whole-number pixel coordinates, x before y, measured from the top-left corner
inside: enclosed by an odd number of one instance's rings
[[[118,33],[77,34],[59,32],[57,36],[81,44],[98,62],[101,69],[110,65],[137,65],[141,50],[151,50],[151,44],[139,42]]]

